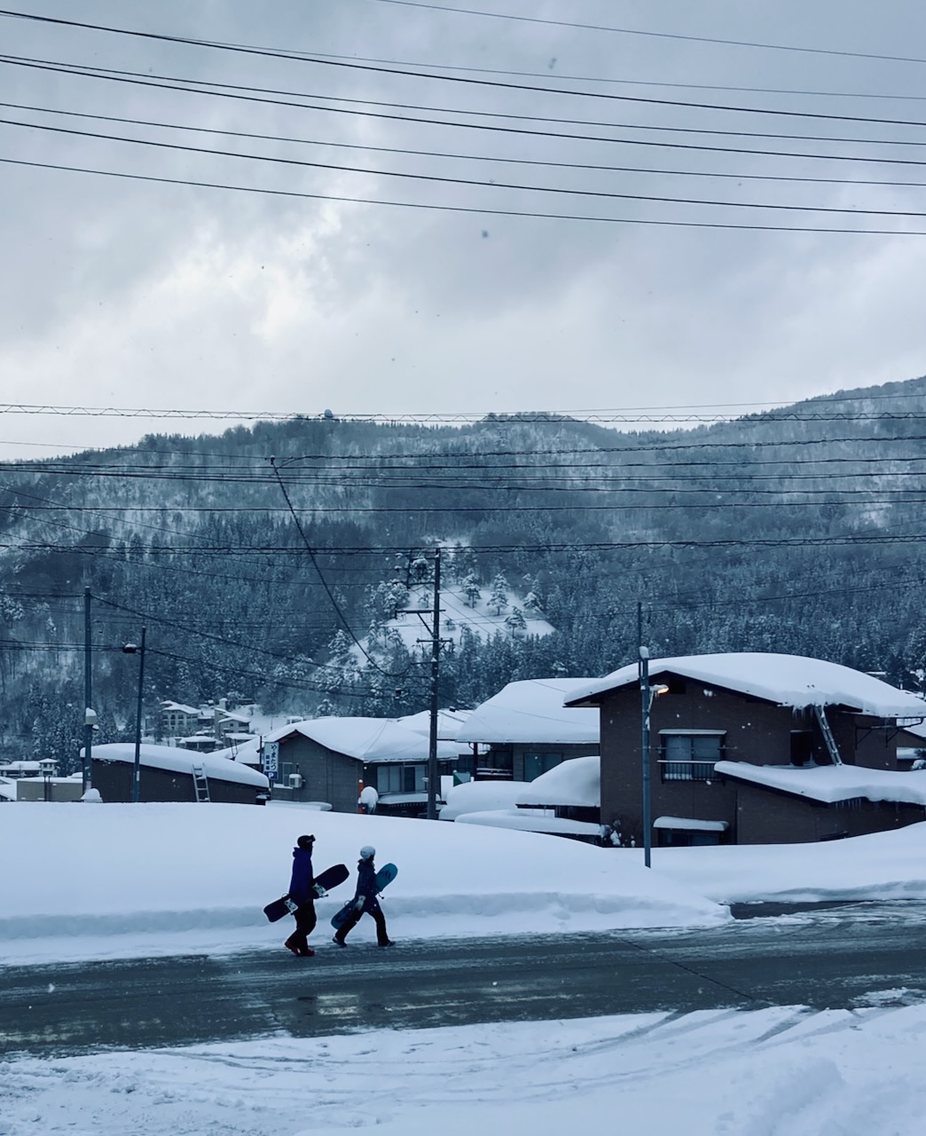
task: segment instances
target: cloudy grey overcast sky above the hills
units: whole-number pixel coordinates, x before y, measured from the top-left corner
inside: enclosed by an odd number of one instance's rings
[[[0,117],[32,124],[0,125],[0,157],[317,195],[0,166],[0,398],[8,403],[308,415],[620,411],[782,404],[926,371],[926,235],[896,232],[926,234],[926,216],[742,208],[926,214],[926,165],[916,165],[926,164],[926,128],[916,125],[926,123],[923,5],[30,0],[18,10],[338,59],[0,18]],[[555,23],[563,20],[604,26]],[[918,52],[923,61],[853,55]],[[24,59],[110,68],[136,82],[25,67]],[[419,74],[334,65],[347,60],[386,60],[378,66]],[[428,72],[439,77],[422,77]],[[185,90],[140,85],[144,76]],[[246,87],[237,93],[250,98],[194,93],[196,84],[226,94],[229,85]],[[912,125],[858,120],[866,118]],[[655,173],[634,172],[643,169]],[[7,412],[0,458],[225,425]]]

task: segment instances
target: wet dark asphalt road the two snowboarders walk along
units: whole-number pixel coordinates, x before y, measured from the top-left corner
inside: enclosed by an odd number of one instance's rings
[[[926,904],[736,911],[706,930],[0,967],[0,1055],[768,1004],[926,1000]]]

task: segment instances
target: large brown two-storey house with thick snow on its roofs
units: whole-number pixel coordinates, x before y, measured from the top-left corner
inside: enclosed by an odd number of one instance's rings
[[[898,762],[900,732],[926,702],[872,675],[758,652],[649,662],[651,841],[780,844],[836,840],[926,819],[926,771]],[[637,663],[578,685],[597,708],[601,819],[642,842]]]

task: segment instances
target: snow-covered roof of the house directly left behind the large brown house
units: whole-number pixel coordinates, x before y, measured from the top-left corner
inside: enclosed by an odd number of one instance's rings
[[[582,682],[581,678],[527,678],[508,683],[473,710],[456,735],[457,741],[597,745],[598,711],[563,705],[565,695]]]

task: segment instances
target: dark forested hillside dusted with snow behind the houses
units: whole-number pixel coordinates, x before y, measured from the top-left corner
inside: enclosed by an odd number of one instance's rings
[[[121,648],[142,626],[151,710],[420,710],[429,648],[384,628],[438,544],[446,588],[502,577],[511,611],[555,628],[449,636],[444,704],[604,674],[638,635],[655,654],[805,653],[919,688],[926,379],[666,425],[326,416],[6,463],[5,750],[76,755],[85,588],[102,741],[133,720]]]

